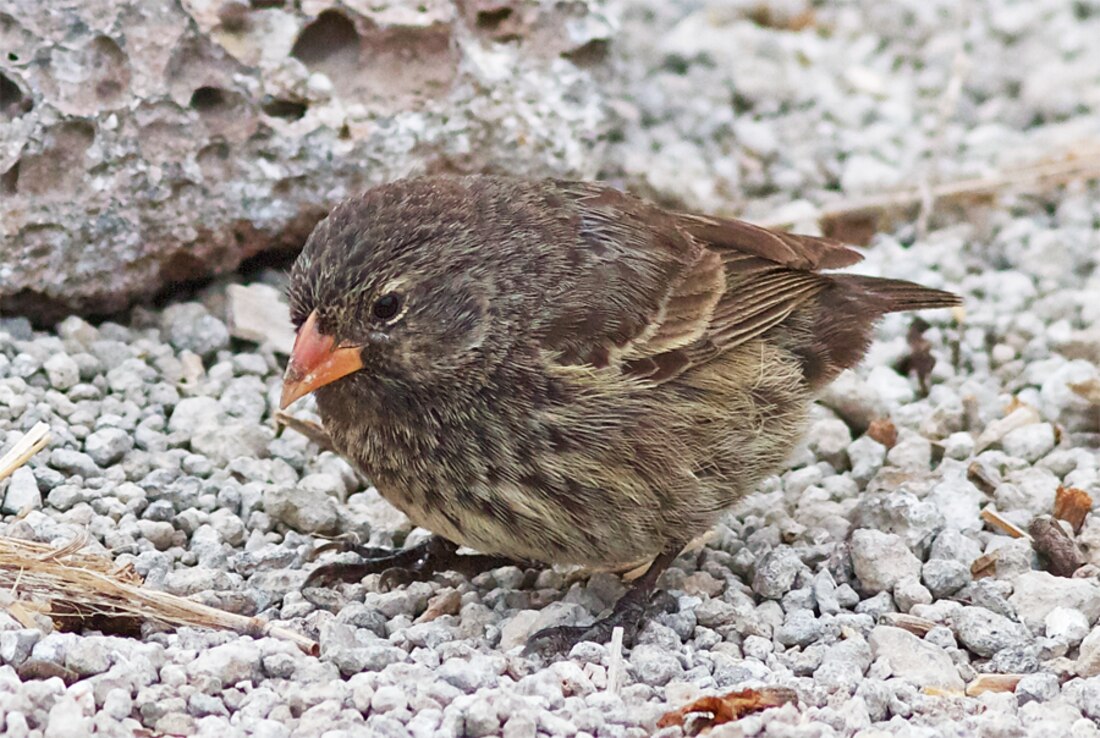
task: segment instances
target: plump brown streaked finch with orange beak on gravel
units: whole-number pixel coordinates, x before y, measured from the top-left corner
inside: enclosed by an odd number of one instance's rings
[[[605,617],[528,643],[632,639],[660,574],[782,467],[878,319],[960,304],[835,271],[860,260],[593,181],[420,176],[344,200],[290,271],[279,404],[311,393],[333,447],[433,536],[307,585],[648,565]]]

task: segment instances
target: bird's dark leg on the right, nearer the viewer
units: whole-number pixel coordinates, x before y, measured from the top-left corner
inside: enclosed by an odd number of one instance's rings
[[[631,645],[651,609],[658,577],[680,554],[681,548],[667,549],[653,559],[653,563],[649,565],[646,573],[635,580],[626,594],[615,603],[615,607],[612,608],[612,613],[607,617],[586,626],[543,628],[527,639],[527,648],[524,652],[568,653],[573,646],[581,641],[591,640],[597,643],[609,641],[612,632],[619,627],[624,630],[623,642],[627,646]]]

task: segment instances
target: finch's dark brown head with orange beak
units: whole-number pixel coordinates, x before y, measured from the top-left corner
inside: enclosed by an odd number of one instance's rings
[[[415,181],[345,201],[306,242],[290,274],[298,333],[282,407],[338,387],[469,384],[495,361],[501,274],[480,249],[482,214],[455,184]]]

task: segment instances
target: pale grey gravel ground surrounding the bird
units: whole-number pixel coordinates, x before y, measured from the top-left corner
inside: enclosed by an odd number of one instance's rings
[[[789,30],[809,8],[630,3],[606,174],[798,222],[1100,128],[1096,2],[843,2],[815,11],[828,32]],[[928,392],[894,368],[912,318],[892,316],[823,398],[790,469],[668,572],[680,612],[646,626],[618,680],[604,646],[554,663],[520,654],[532,630],[605,609],[623,591],[608,574],[505,568],[392,592],[370,576],[334,592],[331,612],[301,597],[318,537],[425,533],[338,456],[272,430],[284,359],[231,339],[227,283],[119,322],[0,320],[0,450],[37,421],[53,431],[0,487],[0,535],[87,531],[150,586],[321,647],[43,632],[0,612],[0,730],[672,738],[680,728],[654,727],[666,711],[777,685],[799,703],[711,735],[1100,736],[1100,516],[1077,536],[1072,577],[979,517],[1026,528],[1059,486],[1100,498],[1100,408],[1080,394],[1100,387],[1100,187],[965,214],[920,236],[899,224],[860,267],[966,297],[965,316],[926,316]],[[1020,679],[974,694],[985,674]]]

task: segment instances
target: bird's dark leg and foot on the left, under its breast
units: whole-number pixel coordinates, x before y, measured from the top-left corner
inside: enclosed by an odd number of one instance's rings
[[[490,569],[518,563],[504,557],[460,554],[458,546],[439,536],[432,536],[422,543],[407,549],[383,549],[359,546],[350,541],[333,541],[318,548],[314,553],[316,555],[331,550],[353,551],[363,561],[318,566],[306,579],[301,585],[302,590],[331,586],[337,582],[359,582],[367,574],[382,574],[382,586],[392,588],[427,580],[438,572],[458,572],[469,577]]]

